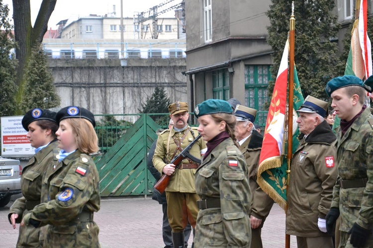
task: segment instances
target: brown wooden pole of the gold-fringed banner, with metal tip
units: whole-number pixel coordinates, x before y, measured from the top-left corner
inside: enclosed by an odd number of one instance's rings
[[[293,135],[293,98],[294,98],[294,41],[295,41],[295,18],[294,18],[294,1],[291,3],[290,17],[290,37],[289,37],[289,92],[288,92],[288,113],[287,113],[287,183],[286,194],[289,185],[290,165],[292,158],[292,135]],[[290,235],[285,236],[285,248],[290,248]]]

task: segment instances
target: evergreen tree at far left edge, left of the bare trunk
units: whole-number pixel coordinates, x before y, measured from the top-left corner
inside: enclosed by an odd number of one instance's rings
[[[15,49],[15,42],[8,14],[8,6],[0,1],[0,116],[12,116],[16,111],[17,61],[11,54]]]

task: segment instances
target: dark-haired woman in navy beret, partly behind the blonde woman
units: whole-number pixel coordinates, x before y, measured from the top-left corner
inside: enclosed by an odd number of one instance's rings
[[[56,112],[49,110],[29,110],[22,119],[27,131],[26,137],[35,148],[35,155],[23,168],[21,176],[22,197],[16,199],[10,207],[8,219],[13,228],[21,223],[23,215],[40,204],[42,177],[53,160],[53,149],[57,149]],[[32,226],[19,228],[17,247],[42,247],[43,231]]]

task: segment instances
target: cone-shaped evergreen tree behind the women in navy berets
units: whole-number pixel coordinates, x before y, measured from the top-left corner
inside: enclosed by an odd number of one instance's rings
[[[20,108],[23,112],[32,108],[60,106],[61,99],[56,92],[52,71],[47,65],[47,56],[42,46],[38,45],[32,50],[24,78],[25,88]]]

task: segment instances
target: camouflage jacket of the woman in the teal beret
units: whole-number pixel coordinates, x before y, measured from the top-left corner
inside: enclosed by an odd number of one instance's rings
[[[220,199],[220,208],[199,210],[194,247],[250,247],[247,166],[231,138],[203,158],[195,175],[195,187],[201,199]]]

